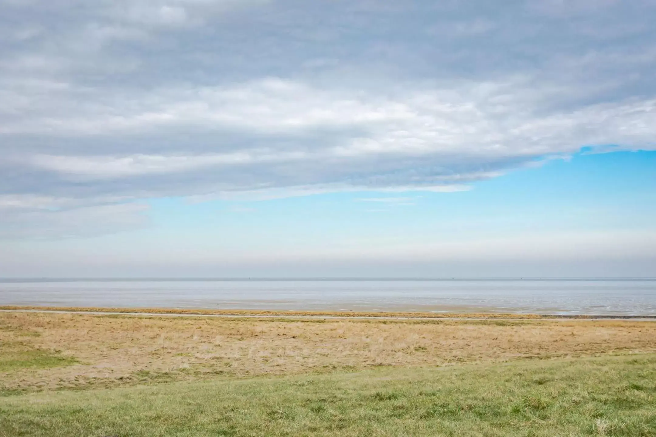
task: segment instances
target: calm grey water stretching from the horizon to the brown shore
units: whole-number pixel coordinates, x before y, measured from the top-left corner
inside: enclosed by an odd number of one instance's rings
[[[656,315],[656,280],[0,280],[0,305]]]

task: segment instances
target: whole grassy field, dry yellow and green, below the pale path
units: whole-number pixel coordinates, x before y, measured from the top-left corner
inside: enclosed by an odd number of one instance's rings
[[[0,313],[0,436],[656,436],[656,323]]]

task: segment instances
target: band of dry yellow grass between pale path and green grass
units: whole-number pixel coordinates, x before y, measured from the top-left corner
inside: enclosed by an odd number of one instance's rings
[[[0,354],[16,345],[79,363],[5,371],[5,390],[652,352],[656,323],[0,313]]]

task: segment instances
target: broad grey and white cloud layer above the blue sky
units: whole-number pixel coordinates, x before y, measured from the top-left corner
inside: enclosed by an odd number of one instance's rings
[[[122,229],[138,199],[453,191],[655,147],[656,2],[434,3],[1,2],[0,210]]]

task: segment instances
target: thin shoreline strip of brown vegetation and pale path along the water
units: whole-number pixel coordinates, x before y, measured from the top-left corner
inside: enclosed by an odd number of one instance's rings
[[[165,309],[165,308],[104,308],[104,307],[48,307],[33,305],[0,305],[3,313],[59,313],[125,316],[201,316],[224,318],[323,318],[323,319],[380,319],[380,320],[654,320],[656,314],[527,314],[527,313],[425,313],[400,311],[276,311],[236,309]]]

